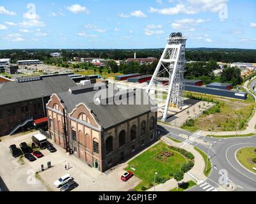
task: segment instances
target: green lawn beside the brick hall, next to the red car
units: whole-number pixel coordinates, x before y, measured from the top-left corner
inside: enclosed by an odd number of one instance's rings
[[[174,155],[170,157],[161,156],[163,152],[173,153]],[[172,178],[170,173],[179,171],[182,164],[186,163],[188,163],[186,157],[170,150],[165,143],[161,142],[143,152],[135,159],[132,159],[132,161],[128,163],[129,167],[127,167],[126,170],[132,171],[136,177],[142,180],[142,182],[135,187],[136,191],[141,191],[141,187],[149,188],[154,186],[155,172],[157,172],[156,177],[158,177],[156,180],[162,180],[162,182],[164,182]],[[131,166],[136,170],[131,170]]]

